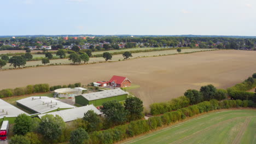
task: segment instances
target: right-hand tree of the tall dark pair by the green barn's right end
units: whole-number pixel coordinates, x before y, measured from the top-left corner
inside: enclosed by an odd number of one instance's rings
[[[129,121],[141,119],[143,117],[143,101],[137,97],[125,100],[125,110],[129,111]]]

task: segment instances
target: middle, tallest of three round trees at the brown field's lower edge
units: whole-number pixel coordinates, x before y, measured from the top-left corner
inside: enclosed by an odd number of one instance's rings
[[[213,85],[202,86],[200,92],[203,95],[203,100],[214,99],[215,95],[217,95],[217,89]]]

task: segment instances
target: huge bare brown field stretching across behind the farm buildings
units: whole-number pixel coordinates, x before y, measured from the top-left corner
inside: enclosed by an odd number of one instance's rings
[[[112,75],[127,76],[141,88],[132,93],[145,106],[183,95],[212,83],[227,88],[256,73],[256,51],[207,51],[188,55],[147,57],[113,63],[62,65],[0,71],[0,89],[29,84],[68,83],[109,80]]]

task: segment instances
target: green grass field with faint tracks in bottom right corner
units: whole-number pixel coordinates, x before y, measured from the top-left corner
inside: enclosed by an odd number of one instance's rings
[[[256,110],[224,110],[124,143],[256,143]]]

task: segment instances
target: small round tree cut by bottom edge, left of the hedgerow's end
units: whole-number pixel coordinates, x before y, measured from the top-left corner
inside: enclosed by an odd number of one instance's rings
[[[85,140],[88,139],[88,133],[83,128],[78,128],[71,132],[69,142],[71,144],[82,144]]]

